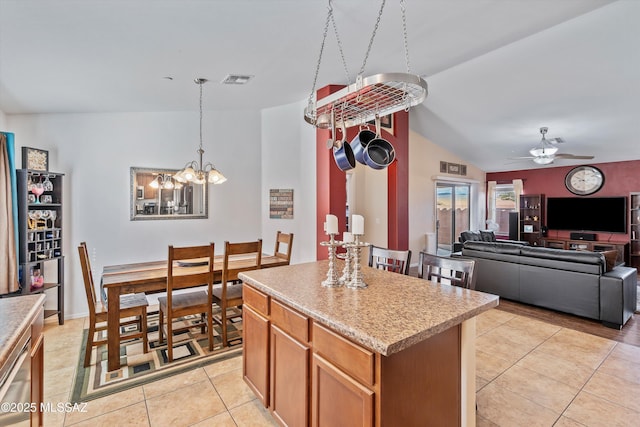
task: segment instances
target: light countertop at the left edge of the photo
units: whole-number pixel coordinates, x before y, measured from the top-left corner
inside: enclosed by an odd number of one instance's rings
[[[0,298],[0,367],[44,304],[44,294]]]

